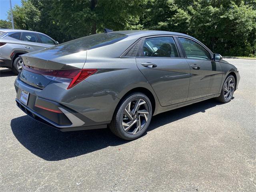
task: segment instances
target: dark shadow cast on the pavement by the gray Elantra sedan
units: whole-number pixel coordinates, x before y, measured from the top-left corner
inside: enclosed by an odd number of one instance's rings
[[[211,99],[158,114],[152,118],[147,132],[192,114],[205,112],[216,105],[220,103]],[[25,148],[47,161],[64,160],[108,146],[132,142],[114,136],[109,129],[61,132],[32,120],[28,116],[12,119],[11,128],[14,136]]]

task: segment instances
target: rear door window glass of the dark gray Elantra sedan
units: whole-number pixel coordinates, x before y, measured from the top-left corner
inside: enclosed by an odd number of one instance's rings
[[[179,57],[172,37],[154,37],[145,40],[144,57]]]

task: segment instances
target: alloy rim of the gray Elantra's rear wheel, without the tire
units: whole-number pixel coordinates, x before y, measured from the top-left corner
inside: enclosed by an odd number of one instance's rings
[[[124,109],[122,127],[127,134],[139,134],[148,122],[149,108],[145,100],[136,98]]]

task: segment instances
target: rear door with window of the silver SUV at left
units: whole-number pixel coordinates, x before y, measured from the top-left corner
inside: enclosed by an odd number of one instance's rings
[[[22,32],[20,40],[22,41],[24,50],[27,52],[33,52],[47,48],[44,44],[39,43],[39,40],[35,33]]]

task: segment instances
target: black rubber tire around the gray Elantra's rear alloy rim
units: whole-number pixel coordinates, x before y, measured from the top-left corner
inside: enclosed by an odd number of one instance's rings
[[[133,102],[134,100],[138,100],[138,99],[142,99],[139,101],[146,102],[146,104],[144,104],[144,105],[148,106],[148,118],[147,118],[147,121],[146,121],[146,118],[144,119],[144,124],[142,125],[143,128],[140,130],[140,132],[138,132],[138,134],[132,135],[132,134],[128,134],[128,132],[126,132],[124,130],[124,126],[123,126],[124,119],[123,118],[127,118],[124,115],[124,110],[128,107],[128,104],[130,102]],[[145,110],[145,111],[147,111],[147,110]],[[131,111],[131,113],[132,113],[132,111]],[[139,114],[139,118],[140,118],[140,116],[142,116],[142,113]],[[134,117],[136,118],[136,116],[133,115],[133,118]],[[129,94],[128,96],[126,96],[124,99],[122,99],[120,104],[117,106],[117,108],[114,112],[112,121],[109,125],[109,128],[116,136],[118,136],[124,140],[134,140],[134,139],[137,139],[140,136],[142,136],[142,134],[144,134],[144,132],[147,130],[147,128],[150,124],[150,121],[151,121],[151,117],[152,117],[152,105],[151,105],[149,98],[145,94],[140,93],[140,92],[132,93],[132,94]],[[144,117],[142,117],[142,118],[144,118]],[[142,118],[140,118],[140,121],[142,121],[141,120]],[[137,122],[136,122],[136,124],[137,124]],[[137,126],[136,124],[134,124],[134,126]],[[135,127],[135,129],[136,129],[136,127]]]

